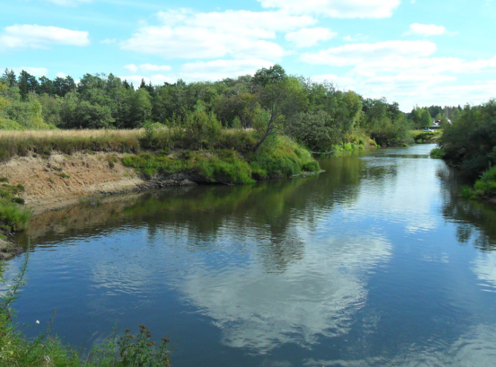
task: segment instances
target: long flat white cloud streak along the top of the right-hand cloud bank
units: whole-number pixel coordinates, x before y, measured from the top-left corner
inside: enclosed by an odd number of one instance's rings
[[[346,44],[317,53],[304,53],[301,58],[310,64],[349,66],[395,57],[430,56],[435,49],[435,44],[429,41],[384,41],[376,44]]]

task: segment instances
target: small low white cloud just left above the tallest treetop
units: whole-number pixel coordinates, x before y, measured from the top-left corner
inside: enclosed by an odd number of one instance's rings
[[[249,60],[214,60],[186,63],[181,66],[181,77],[185,80],[221,80],[228,77],[253,75],[261,67],[271,67],[271,61],[262,59]]]

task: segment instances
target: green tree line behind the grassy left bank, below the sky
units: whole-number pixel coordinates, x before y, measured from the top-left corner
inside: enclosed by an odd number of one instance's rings
[[[280,65],[217,82],[147,84],[138,88],[113,74],[34,77],[5,70],[0,77],[2,129],[135,129],[159,122],[180,127],[201,108],[226,128],[259,129],[261,142],[287,134],[311,150],[374,139],[381,146],[410,141],[409,129],[429,127],[433,112],[405,114],[386,98],[364,98],[330,82],[288,75]]]

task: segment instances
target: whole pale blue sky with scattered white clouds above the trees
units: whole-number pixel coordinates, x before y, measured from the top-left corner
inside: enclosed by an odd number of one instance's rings
[[[496,97],[496,0],[0,0],[0,68],[139,85],[216,81],[278,63],[365,98]]]

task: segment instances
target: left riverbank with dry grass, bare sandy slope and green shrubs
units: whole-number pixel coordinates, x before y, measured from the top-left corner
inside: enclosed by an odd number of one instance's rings
[[[320,171],[311,153],[290,138],[272,136],[255,148],[257,139],[255,131],[242,129],[6,132],[0,136],[1,231],[20,231],[30,214],[102,194],[252,184]],[[13,246],[7,241],[4,247]]]

